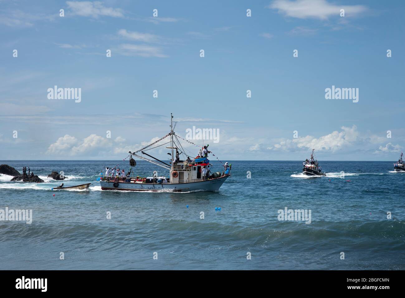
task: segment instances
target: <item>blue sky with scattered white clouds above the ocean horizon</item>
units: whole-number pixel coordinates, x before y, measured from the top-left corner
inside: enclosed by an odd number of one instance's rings
[[[315,148],[319,160],[395,161],[405,147],[404,8],[0,0],[0,159],[125,158],[164,136],[173,113],[180,136],[219,129],[210,148],[221,159],[303,160]],[[48,99],[54,85],[81,88],[81,102]],[[358,88],[358,102],[325,99],[332,85]]]

